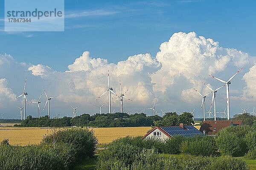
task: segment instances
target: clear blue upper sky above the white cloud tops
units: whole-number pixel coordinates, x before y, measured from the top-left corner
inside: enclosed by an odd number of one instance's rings
[[[3,17],[3,1],[0,6]],[[0,54],[12,54],[19,62],[42,63],[65,71],[83,51],[116,63],[139,53],[154,56],[160,43],[173,33],[195,31],[223,47],[255,56],[254,7],[253,1],[66,0],[66,14],[79,16],[86,11],[87,15],[66,18],[64,32],[1,31]]]

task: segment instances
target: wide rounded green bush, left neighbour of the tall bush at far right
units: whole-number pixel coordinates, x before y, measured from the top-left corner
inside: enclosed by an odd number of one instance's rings
[[[215,139],[212,136],[194,136],[187,138],[180,144],[182,153],[195,156],[211,156],[216,153]]]

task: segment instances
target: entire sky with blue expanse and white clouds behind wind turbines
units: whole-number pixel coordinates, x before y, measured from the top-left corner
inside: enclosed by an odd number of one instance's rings
[[[108,102],[107,96],[100,102],[95,99],[106,90],[109,69],[114,91],[119,91],[121,79],[134,101],[125,102],[125,109],[142,110],[157,101],[158,112],[196,108],[199,115],[201,98],[193,88],[207,93],[201,81],[212,88],[222,85],[208,74],[228,79],[241,67],[230,86],[231,115],[241,108],[252,110],[256,102],[255,5],[249,0],[66,0],[65,31],[5,32],[2,0],[0,112],[17,117],[16,106],[22,100],[13,98],[20,95],[27,77],[29,101],[38,99],[45,88],[57,96],[51,104],[54,113],[71,115],[70,105],[79,105],[79,114],[96,113],[93,105]],[[224,88],[217,97],[217,111],[224,111]],[[210,100],[211,96],[207,109]],[[117,111],[118,104],[113,108]],[[35,105],[27,109],[37,115]]]

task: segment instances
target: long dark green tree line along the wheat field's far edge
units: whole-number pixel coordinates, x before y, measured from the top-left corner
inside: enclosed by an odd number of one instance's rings
[[[147,116],[145,113],[96,113],[90,115],[84,113],[76,117],[63,117],[49,119],[48,116],[33,118],[27,116],[21,122],[20,127],[139,127],[139,126],[172,126],[183,123],[194,124],[191,113],[184,112],[178,115],[175,112],[166,113],[165,116]]]

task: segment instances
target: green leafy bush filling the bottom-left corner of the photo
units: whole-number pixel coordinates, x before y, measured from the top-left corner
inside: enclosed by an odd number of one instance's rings
[[[1,170],[68,170],[55,152],[37,145],[0,145]]]

